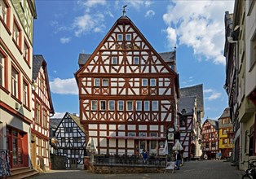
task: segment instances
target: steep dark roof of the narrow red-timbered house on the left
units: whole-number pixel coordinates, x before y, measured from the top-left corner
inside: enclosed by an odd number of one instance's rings
[[[46,60],[43,58],[42,55],[33,55],[33,70],[32,70],[32,80],[33,81],[37,80],[38,73],[39,73],[41,67],[44,69],[44,73],[45,73],[46,88],[47,88],[47,93],[48,93],[49,103],[50,103],[50,112],[51,112],[51,114],[54,114],[55,111],[54,111],[53,103],[51,100],[51,89],[50,89],[50,84],[49,84]]]

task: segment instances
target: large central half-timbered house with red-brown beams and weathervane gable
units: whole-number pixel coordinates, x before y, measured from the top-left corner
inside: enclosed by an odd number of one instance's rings
[[[79,56],[80,120],[99,154],[162,154],[176,125],[175,53],[158,54],[123,15],[91,55]]]

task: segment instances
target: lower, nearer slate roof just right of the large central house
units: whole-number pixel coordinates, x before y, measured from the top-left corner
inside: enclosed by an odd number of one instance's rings
[[[193,110],[195,106],[196,106],[195,96],[179,98],[179,103],[178,103],[179,113],[182,113],[181,111],[185,109],[186,115],[192,115],[194,112]]]

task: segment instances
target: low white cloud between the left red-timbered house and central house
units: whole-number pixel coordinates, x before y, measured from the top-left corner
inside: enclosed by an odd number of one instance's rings
[[[51,92],[54,94],[78,94],[77,81],[75,78],[55,78],[50,81]]]

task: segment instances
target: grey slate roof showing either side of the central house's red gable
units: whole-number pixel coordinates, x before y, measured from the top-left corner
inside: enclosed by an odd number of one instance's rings
[[[169,51],[169,52],[163,52],[158,54],[166,63],[176,62],[176,51]],[[90,58],[90,54],[80,54],[78,58],[79,68],[82,68],[82,65],[84,65],[89,58]]]

